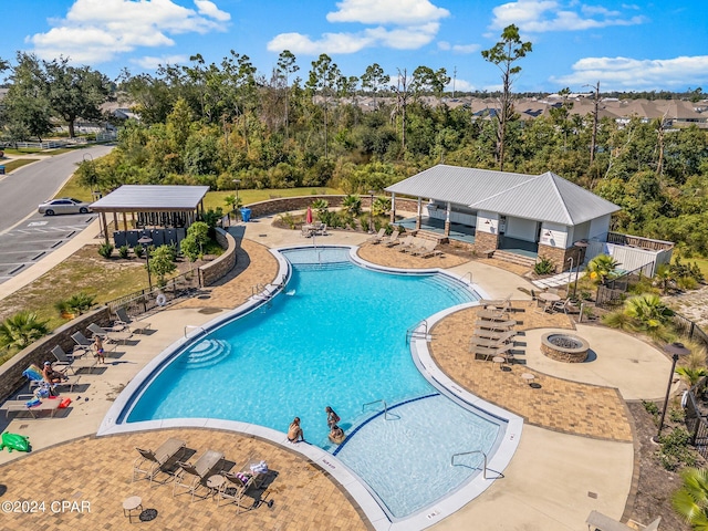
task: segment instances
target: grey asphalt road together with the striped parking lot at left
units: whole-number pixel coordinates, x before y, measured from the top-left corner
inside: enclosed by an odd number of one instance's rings
[[[0,283],[46,257],[95,219],[95,214],[42,216],[37,206],[59,191],[86,154],[95,160],[112,148],[94,146],[45,158],[0,180]]]

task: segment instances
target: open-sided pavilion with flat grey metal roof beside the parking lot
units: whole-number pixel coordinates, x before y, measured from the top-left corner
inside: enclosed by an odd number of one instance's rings
[[[204,214],[204,196],[208,186],[123,185],[91,205],[102,219],[103,236],[108,242],[106,214],[113,214],[113,225],[119,230],[147,228],[184,228]],[[128,225],[129,215],[129,225]]]

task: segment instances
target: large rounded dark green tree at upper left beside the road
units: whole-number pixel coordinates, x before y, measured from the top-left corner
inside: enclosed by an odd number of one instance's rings
[[[75,136],[77,117],[101,117],[101,104],[110,94],[108,79],[88,66],[70,66],[69,59],[42,62],[46,79],[46,95],[54,114],[66,122],[69,136]]]

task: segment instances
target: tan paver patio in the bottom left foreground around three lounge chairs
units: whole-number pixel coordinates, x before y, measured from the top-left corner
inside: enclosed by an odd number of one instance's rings
[[[247,492],[242,502],[246,510],[240,513],[235,504],[217,508],[210,497],[195,498],[191,503],[189,494],[173,498],[171,482],[153,488],[147,480],[132,482],[133,462],[138,457],[135,447],[155,449],[168,437],[187,442],[195,452],[192,462],[205,450],[214,449],[236,462],[232,471],[241,470],[251,459],[264,459],[271,472],[261,489]],[[3,506],[0,529],[7,530],[132,529],[122,511],[122,501],[131,496],[143,499],[143,509],[157,511],[149,522],[133,518],[136,529],[371,529],[336,482],[306,459],[277,445],[227,431],[184,428],[83,437],[41,455],[29,455],[0,470],[0,501],[44,502],[42,510],[29,514],[7,511]],[[205,494],[206,490],[199,492]],[[62,511],[62,501],[75,502],[75,510],[70,506]],[[82,507],[84,511],[79,510]]]

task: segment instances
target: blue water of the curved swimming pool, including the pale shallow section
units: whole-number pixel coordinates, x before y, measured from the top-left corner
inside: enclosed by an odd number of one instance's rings
[[[284,292],[181,351],[127,421],[209,417],[287,431],[299,416],[305,439],[336,451],[394,518],[464,483],[476,464],[450,467],[451,454],[489,451],[499,426],[439,395],[416,368],[406,331],[475,294],[440,274],[361,268],[348,249],[283,254],[293,264]],[[381,403],[364,407],[379,399],[394,406],[386,419],[376,416]],[[348,434],[339,448],[325,406]],[[413,478],[420,488],[410,489]]]

